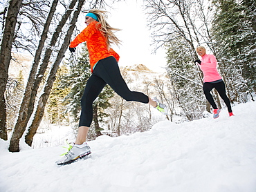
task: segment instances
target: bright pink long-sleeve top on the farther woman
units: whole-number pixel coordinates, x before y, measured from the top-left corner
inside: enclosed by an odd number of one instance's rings
[[[199,65],[203,71],[203,82],[212,82],[221,79],[221,75],[217,70],[217,60],[214,55],[203,55],[201,58],[201,65]]]

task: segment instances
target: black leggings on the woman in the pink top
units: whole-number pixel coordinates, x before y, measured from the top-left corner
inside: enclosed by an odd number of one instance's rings
[[[221,81],[219,83],[204,83],[203,84],[203,93],[204,93],[206,99],[211,104],[212,108],[217,109],[217,106],[212,98],[212,95],[210,94],[210,91],[212,90],[212,88],[215,88],[218,91],[219,96],[221,96],[221,98],[225,102],[226,106],[228,107],[228,112],[232,112],[230,100],[228,99],[228,96],[226,95],[226,88],[225,88],[224,82]]]

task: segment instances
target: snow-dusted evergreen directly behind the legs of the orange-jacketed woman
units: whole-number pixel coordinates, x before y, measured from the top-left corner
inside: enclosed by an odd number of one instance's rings
[[[78,122],[80,118],[80,100],[84,93],[86,82],[90,76],[91,66],[89,64],[89,54],[86,48],[83,47],[77,64],[75,64],[75,62],[70,64],[70,73],[62,78],[64,87],[70,88],[70,93],[66,96],[66,102],[68,102],[68,111],[71,112],[75,122]],[[108,115],[104,113],[104,109],[111,106],[109,103],[111,97],[113,97],[113,90],[107,85],[95,99],[95,102],[93,102],[93,124],[92,129],[89,131],[89,139],[101,135],[100,131],[102,131],[102,128],[100,127],[100,122]]]

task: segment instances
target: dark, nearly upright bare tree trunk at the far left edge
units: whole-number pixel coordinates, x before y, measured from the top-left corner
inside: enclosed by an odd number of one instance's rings
[[[3,37],[0,50],[0,138],[7,140],[6,128],[6,99],[4,93],[8,80],[8,70],[10,66],[12,43],[14,41],[15,26],[19,8],[21,8],[22,0],[11,0],[9,2],[6,26],[3,30]]]

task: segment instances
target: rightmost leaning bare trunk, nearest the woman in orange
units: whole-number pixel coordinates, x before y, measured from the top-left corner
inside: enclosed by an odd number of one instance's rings
[[[43,115],[44,115],[44,108],[46,106],[46,102],[48,100],[48,97],[51,93],[51,88],[53,87],[53,82],[55,81],[57,69],[64,57],[64,54],[66,52],[66,49],[69,46],[69,42],[71,40],[71,35],[73,33],[73,30],[75,28],[75,23],[77,21],[77,17],[80,14],[80,11],[82,9],[82,6],[84,4],[85,0],[79,0],[77,9],[74,12],[73,18],[70,23],[70,27],[68,28],[66,37],[64,39],[64,43],[62,44],[62,47],[60,48],[60,52],[57,55],[57,58],[55,59],[55,63],[53,64],[53,68],[51,69],[50,75],[48,76],[48,79],[46,80],[46,86],[44,87],[44,94],[41,95],[39,99],[39,103],[37,105],[37,111],[35,113],[35,117],[33,119],[33,122],[31,126],[28,129],[28,133],[26,135],[26,143],[31,146],[33,142],[33,137],[35,133],[37,132],[37,128],[39,127],[39,124],[42,121]]]

